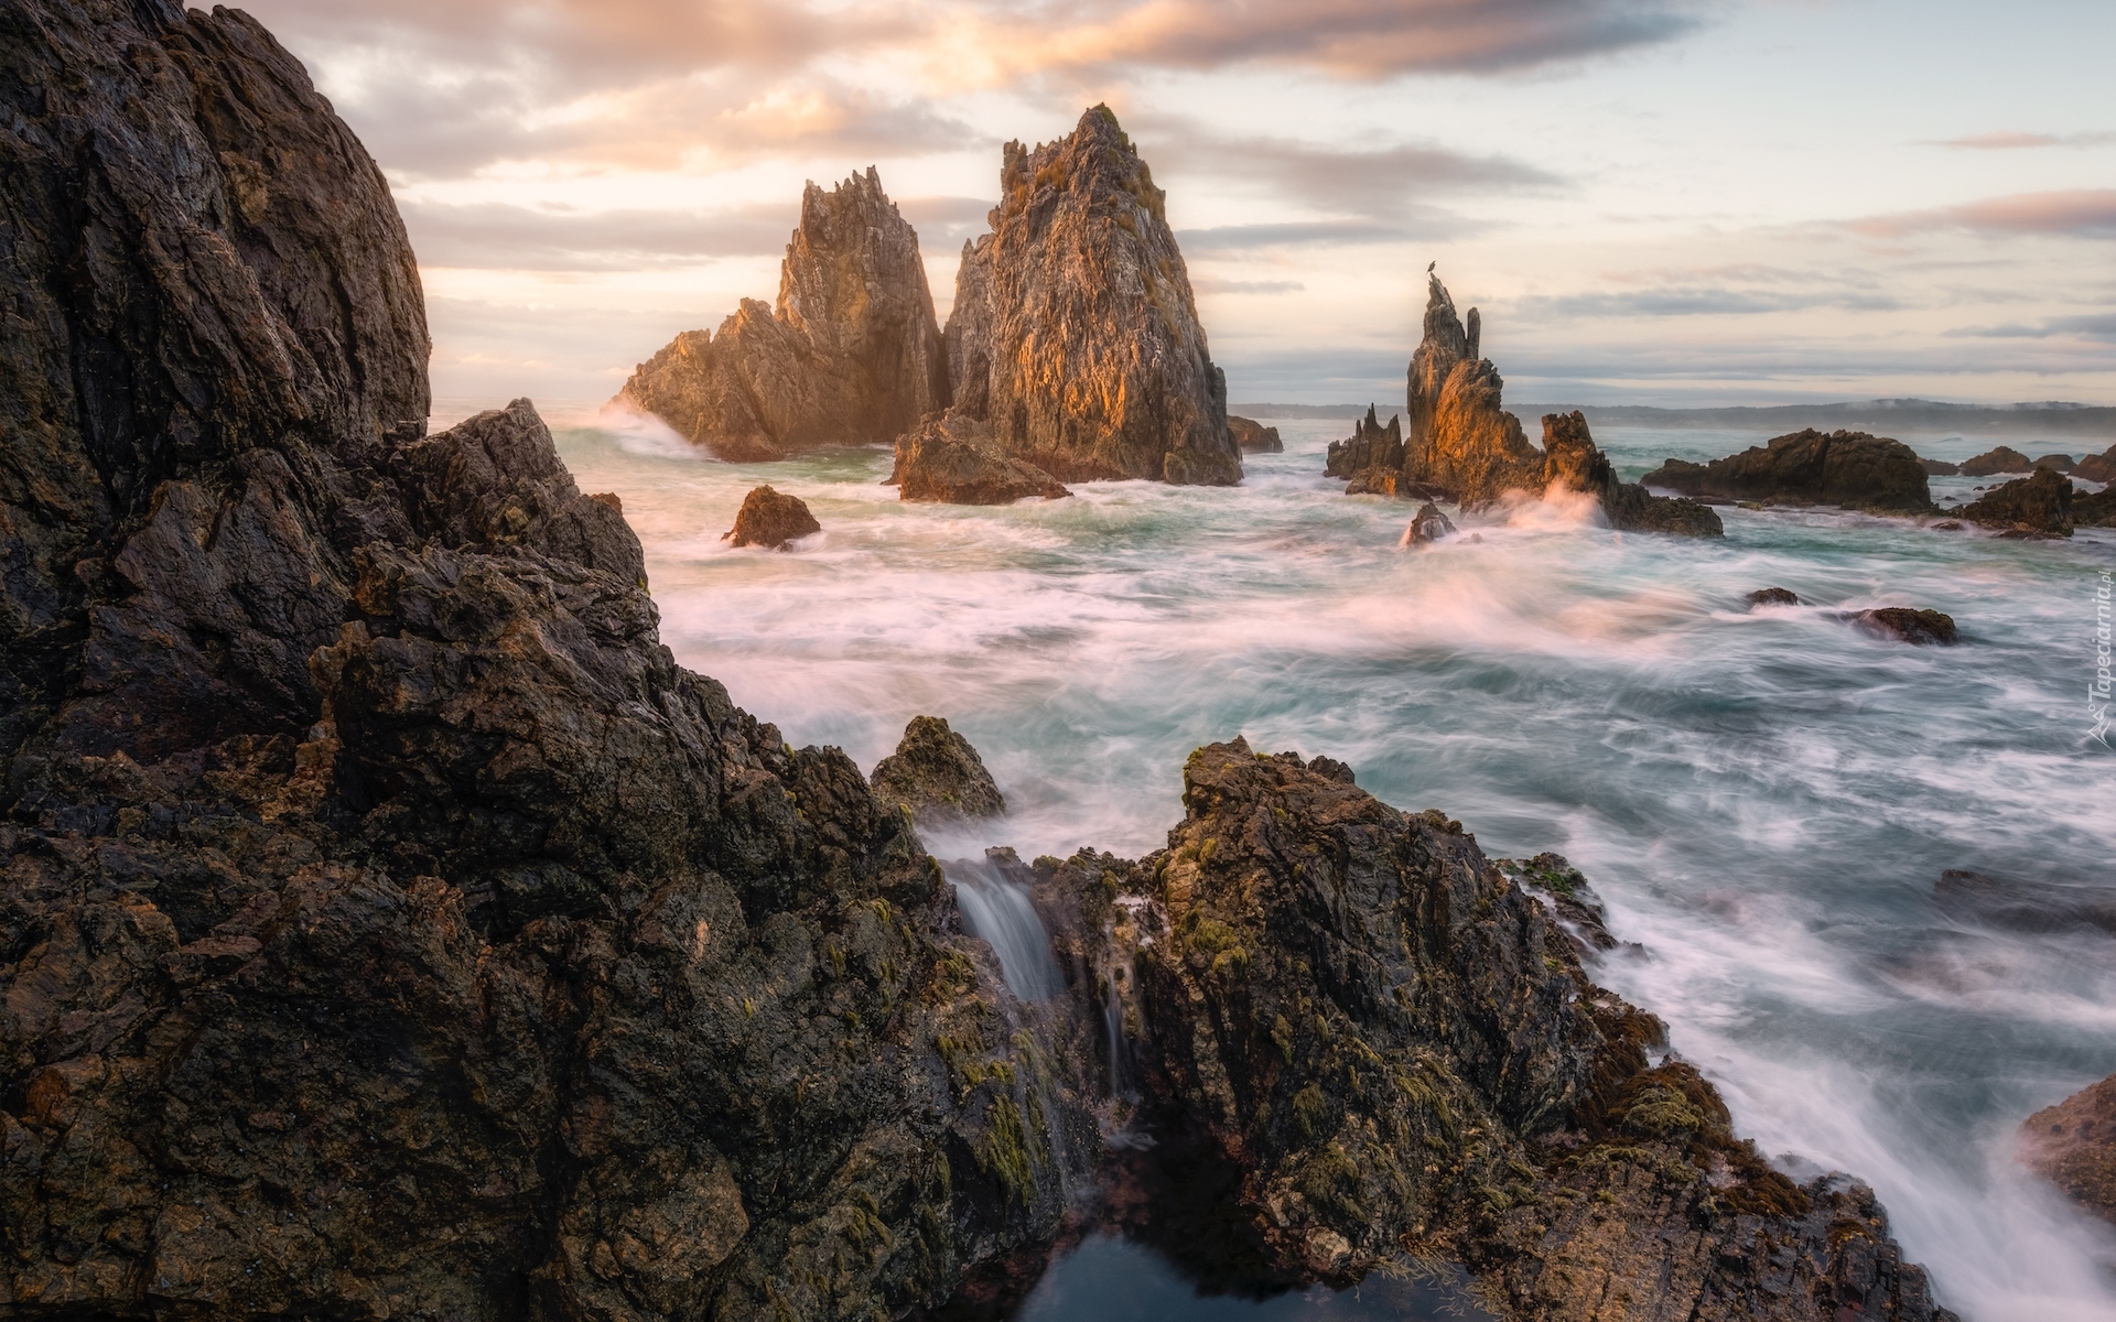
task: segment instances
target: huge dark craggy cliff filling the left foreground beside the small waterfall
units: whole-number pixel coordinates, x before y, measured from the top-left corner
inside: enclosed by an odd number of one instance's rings
[[[0,8],[0,1314],[887,1316],[1066,1102],[906,816],[656,641],[248,17]]]

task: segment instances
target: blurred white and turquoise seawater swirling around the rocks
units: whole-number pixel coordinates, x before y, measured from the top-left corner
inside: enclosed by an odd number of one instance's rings
[[[1335,421],[1276,423],[1287,453],[1253,455],[1238,489],[1100,482],[975,510],[899,503],[884,448],[730,465],[658,425],[557,417],[582,489],[624,499],[683,664],[863,768],[918,713],[969,736],[1009,816],[929,840],[940,857],[1145,852],[1183,814],[1196,745],[1329,753],[1488,852],[1585,869],[1644,945],[1598,977],[1667,1020],[1786,1170],[1875,1185],[1945,1303],[2116,1316],[2116,1235],[2012,1157],[2031,1110],[2116,1072],[2116,939],[1991,931],[1932,901],[1949,867],[2116,888],[2116,755],[2086,702],[2116,535],[1722,510],[1725,541],[1678,541],[1528,501],[1405,550],[1409,506],[1322,478]],[[1638,476],[1758,438],[1598,440]],[[1915,444],[1964,459],[1991,440]],[[730,550],[762,482],[823,533]],[[1811,605],[1750,611],[1763,586]],[[1837,618],[1875,605],[1949,611],[1962,645]],[[1094,1299],[1109,1271],[1160,1299],[1141,1252],[1090,1240],[1022,1316],[1090,1316],[1052,1301]],[[1138,1316],[1306,1307],[1284,1299]]]

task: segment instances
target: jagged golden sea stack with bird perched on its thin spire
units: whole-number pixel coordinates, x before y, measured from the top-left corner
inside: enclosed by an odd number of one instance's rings
[[[1619,482],[1579,412],[1543,419],[1543,448],[1528,444],[1521,423],[1502,410],[1504,385],[1492,360],[1477,355],[1481,319],[1456,315],[1439,277],[1426,288],[1426,328],[1411,355],[1407,419],[1382,427],[1373,406],[1352,438],[1331,442],[1325,474],[1350,478],[1346,495],[1454,499],[1479,510],[1509,491],[1543,495],[1551,486],[1585,491],[1602,501],[1610,527],[1646,533],[1718,537],[1718,514]]]

